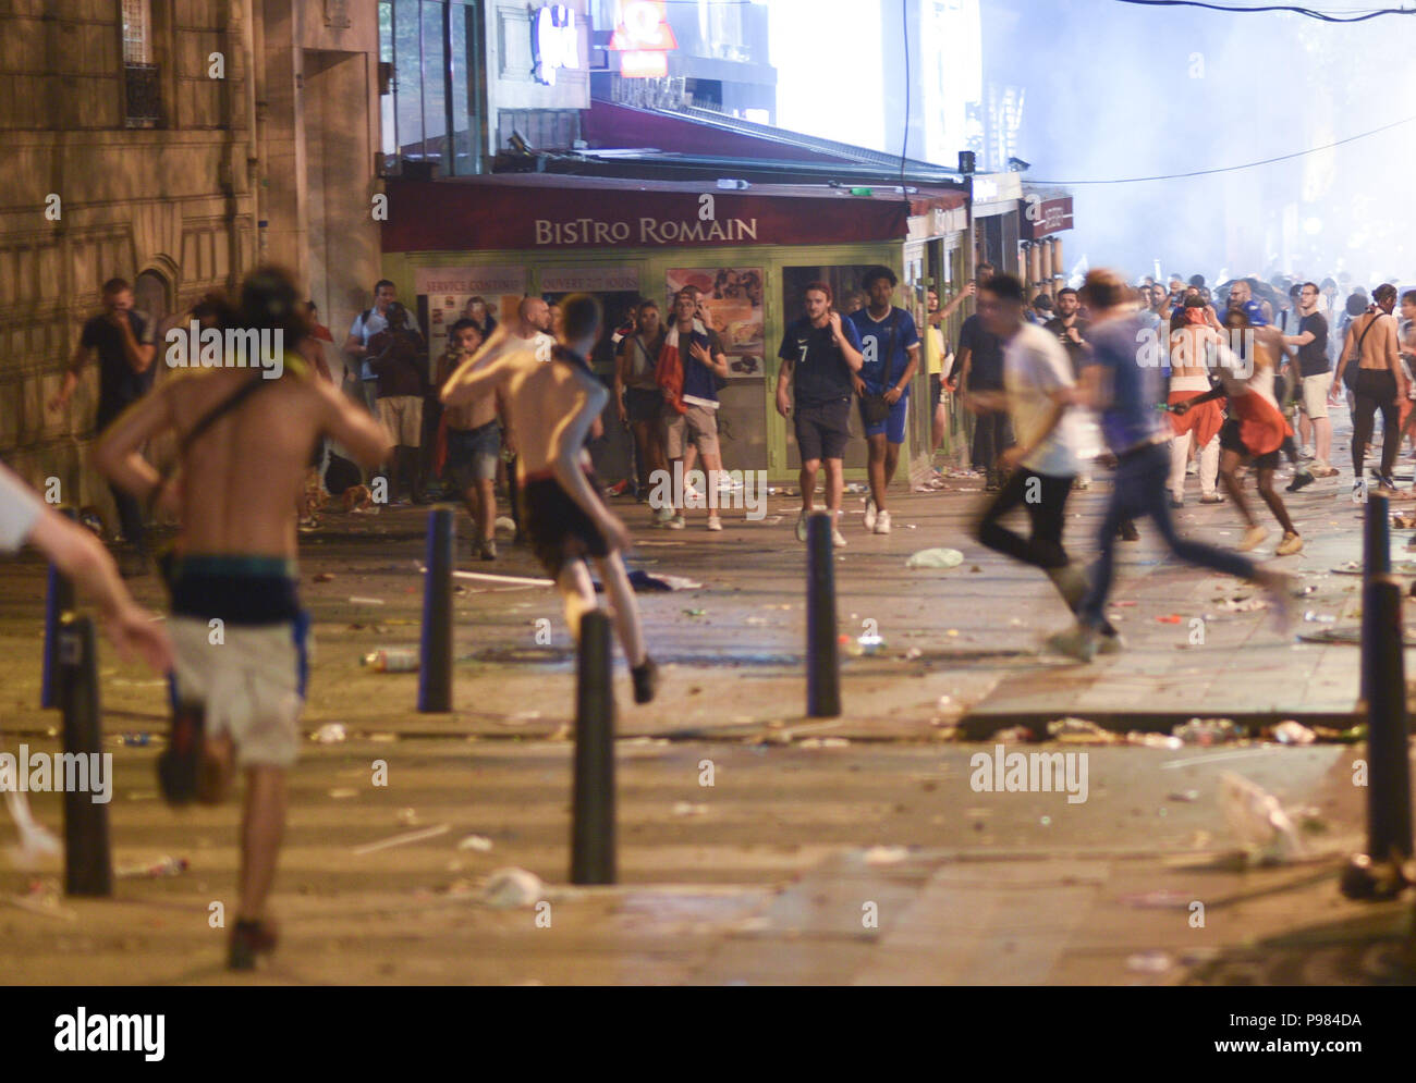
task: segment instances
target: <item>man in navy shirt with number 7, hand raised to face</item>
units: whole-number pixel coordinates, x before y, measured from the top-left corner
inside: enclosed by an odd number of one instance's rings
[[[826,460],[826,508],[831,512],[831,541],[845,545],[838,518],[845,488],[841,456],[851,436],[852,375],[861,371],[861,338],[855,324],[831,307],[831,287],[806,287],[806,316],[782,336],[777,371],[777,413],[796,411],[797,450],[801,453],[801,514],[797,541],[806,541],[806,518],[816,505],[816,471]],[[793,398],[787,395],[792,385]]]

